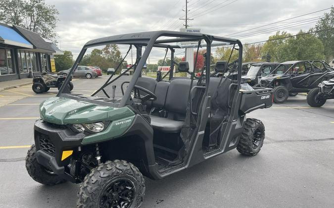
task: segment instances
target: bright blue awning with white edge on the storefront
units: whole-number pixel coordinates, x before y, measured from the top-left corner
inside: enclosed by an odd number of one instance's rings
[[[3,25],[0,25],[0,39],[3,39],[3,43],[7,45],[14,45],[22,48],[34,48],[28,40],[19,35],[16,31]]]

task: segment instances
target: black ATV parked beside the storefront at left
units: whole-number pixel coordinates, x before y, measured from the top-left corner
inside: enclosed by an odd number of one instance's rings
[[[50,88],[58,88],[60,89],[67,75],[54,75],[49,74],[47,71],[43,71],[40,74],[34,73],[33,78],[33,86],[32,89],[35,93],[44,93],[48,92]],[[70,76],[72,80],[72,76]],[[73,90],[73,83],[71,81],[68,82],[68,89],[70,91]],[[67,89],[66,89],[67,90]]]

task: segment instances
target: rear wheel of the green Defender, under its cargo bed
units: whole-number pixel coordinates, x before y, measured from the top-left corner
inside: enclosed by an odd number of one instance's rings
[[[254,156],[261,150],[265,137],[263,123],[254,118],[247,118],[240,136],[237,150],[243,155]]]

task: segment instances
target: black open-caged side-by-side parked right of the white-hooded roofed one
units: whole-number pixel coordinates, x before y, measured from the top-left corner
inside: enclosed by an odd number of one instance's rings
[[[322,66],[321,69],[316,66],[318,64]],[[333,69],[324,62],[288,61],[281,63],[270,75],[262,77],[260,86],[273,88],[274,102],[284,103],[289,94],[307,93],[320,82],[333,77]]]

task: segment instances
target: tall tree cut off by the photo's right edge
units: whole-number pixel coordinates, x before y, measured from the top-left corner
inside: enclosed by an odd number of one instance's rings
[[[318,38],[324,45],[325,59],[330,62],[334,59],[334,7],[331,8],[330,13],[325,13],[316,24],[315,30],[321,31],[317,33]],[[325,30],[325,31],[323,31]]]

